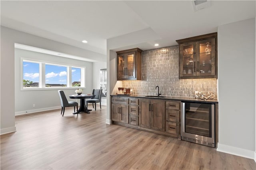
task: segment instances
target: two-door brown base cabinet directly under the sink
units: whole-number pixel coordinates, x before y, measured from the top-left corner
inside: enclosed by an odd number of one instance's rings
[[[164,131],[165,102],[143,99],[140,101],[140,127]]]

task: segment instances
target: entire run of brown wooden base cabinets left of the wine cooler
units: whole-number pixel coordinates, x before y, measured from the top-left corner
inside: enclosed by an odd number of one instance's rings
[[[181,139],[181,101],[111,97],[113,123]]]

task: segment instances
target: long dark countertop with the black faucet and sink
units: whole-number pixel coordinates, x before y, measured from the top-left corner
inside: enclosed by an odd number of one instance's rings
[[[206,102],[206,103],[218,103],[218,99],[196,99],[193,97],[172,97],[172,96],[165,96],[165,97],[146,97],[145,95],[110,95],[110,96],[118,96],[118,97],[138,97],[138,98],[148,98],[148,99],[163,99],[163,100],[178,100],[178,101],[196,101],[196,102]]]

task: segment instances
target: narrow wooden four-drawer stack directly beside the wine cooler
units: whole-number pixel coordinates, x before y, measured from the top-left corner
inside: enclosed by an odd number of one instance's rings
[[[180,102],[166,101],[165,131],[180,138]]]

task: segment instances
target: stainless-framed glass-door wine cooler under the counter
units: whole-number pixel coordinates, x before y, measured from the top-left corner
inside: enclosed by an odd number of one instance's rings
[[[182,140],[215,147],[214,106],[212,103],[182,102]]]

